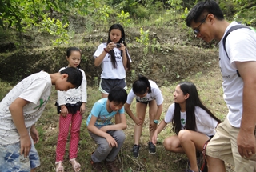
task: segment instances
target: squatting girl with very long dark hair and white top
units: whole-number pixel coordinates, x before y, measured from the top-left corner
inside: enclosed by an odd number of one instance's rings
[[[177,135],[166,138],[164,147],[171,152],[185,153],[190,161],[190,171],[200,171],[196,150],[202,152],[204,144],[215,134],[215,127],[221,121],[202,104],[193,83],[181,82],[176,86],[174,103],[169,106],[165,119],[154,132],[154,145],[158,134],[170,122]]]

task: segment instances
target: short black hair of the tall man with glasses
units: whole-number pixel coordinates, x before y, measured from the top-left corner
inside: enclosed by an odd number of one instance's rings
[[[186,26],[191,25],[191,22],[200,22],[207,14],[213,14],[218,20],[223,20],[224,15],[218,3],[214,0],[206,0],[198,2],[189,12],[186,17]]]

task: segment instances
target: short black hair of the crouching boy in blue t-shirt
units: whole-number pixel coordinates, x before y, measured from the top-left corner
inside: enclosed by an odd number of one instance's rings
[[[122,87],[116,86],[110,90],[110,94],[107,98],[110,102],[113,101],[114,103],[122,103],[124,105],[127,101],[127,92]]]

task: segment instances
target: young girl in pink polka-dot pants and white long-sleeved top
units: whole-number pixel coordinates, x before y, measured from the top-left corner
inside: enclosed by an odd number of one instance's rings
[[[78,89],[68,91],[58,91],[58,101],[56,103],[59,115],[59,133],[56,146],[56,172],[64,172],[63,160],[66,150],[66,141],[70,130],[70,164],[74,172],[81,170],[81,165],[77,162],[78,142],[80,139],[80,127],[82,123],[82,114],[86,112],[87,92],[86,92],[86,74],[80,69],[81,50],[77,47],[70,47],[66,51],[66,60],[68,66],[62,67],[60,71],[75,67],[82,72],[82,84]]]

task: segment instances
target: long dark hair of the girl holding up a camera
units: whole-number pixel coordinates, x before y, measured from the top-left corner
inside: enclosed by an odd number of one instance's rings
[[[109,37],[107,39],[106,45],[111,42],[111,40],[110,40],[110,32],[111,32],[111,30],[114,30],[114,29],[118,29],[118,30],[121,31],[122,37],[121,37],[121,39],[119,40],[118,43],[123,43],[126,46],[127,70],[129,71],[130,70],[130,58],[128,57],[127,45],[126,45],[126,42],[125,42],[126,34],[125,34],[125,31],[124,31],[122,25],[114,24],[114,25],[110,26]],[[110,50],[109,54],[111,55],[112,66],[114,68],[117,68],[117,61],[115,59],[114,50]],[[122,56],[122,50],[121,50],[121,56]]]

